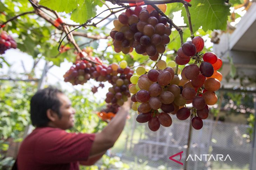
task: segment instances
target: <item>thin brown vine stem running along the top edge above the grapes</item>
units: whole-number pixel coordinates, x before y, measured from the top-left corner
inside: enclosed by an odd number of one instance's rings
[[[137,3],[137,0],[105,0],[105,1],[109,1],[111,3],[118,4],[118,3]],[[180,2],[180,3],[187,3],[188,6],[191,7],[191,4],[184,1],[184,0],[155,0],[155,1],[151,1],[151,0],[144,0],[144,5],[154,5],[154,4],[166,4],[166,3],[175,3],[175,2]]]

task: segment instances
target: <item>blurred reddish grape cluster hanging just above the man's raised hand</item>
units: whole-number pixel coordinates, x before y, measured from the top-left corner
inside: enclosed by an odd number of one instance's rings
[[[73,85],[84,84],[89,79],[93,78],[99,82],[108,81],[113,85],[106,94],[106,103],[111,103],[115,108],[123,105],[130,97],[129,85],[130,77],[133,75],[133,70],[127,66],[126,61],[121,61],[120,65],[112,63],[107,65],[92,65],[90,62],[82,60],[76,63],[63,76],[65,82],[70,82]],[[100,84],[102,87],[102,85]],[[97,92],[98,87],[93,87],[93,93]]]

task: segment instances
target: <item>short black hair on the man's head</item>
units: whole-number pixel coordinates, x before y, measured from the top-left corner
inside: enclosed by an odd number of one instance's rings
[[[54,87],[48,87],[35,93],[30,101],[32,125],[36,127],[46,127],[50,121],[46,115],[48,109],[55,111],[58,117],[61,118],[61,102],[57,96],[58,93],[62,94],[62,91]]]

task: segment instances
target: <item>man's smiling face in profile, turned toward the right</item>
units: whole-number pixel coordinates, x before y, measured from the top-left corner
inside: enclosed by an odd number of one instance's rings
[[[58,93],[57,96],[61,103],[61,118],[55,121],[55,125],[63,130],[72,128],[75,121],[75,109],[71,106],[71,101],[66,95]]]

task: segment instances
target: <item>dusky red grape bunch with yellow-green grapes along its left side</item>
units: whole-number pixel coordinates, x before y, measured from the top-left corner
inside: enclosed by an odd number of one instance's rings
[[[179,109],[180,88],[177,75],[171,67],[163,60],[157,63],[158,69],[151,69],[146,72],[142,66],[136,69],[136,74],[130,78],[129,91],[132,93],[131,100],[133,110],[139,115],[136,120],[139,123],[148,122],[151,131],[157,131],[160,125],[171,126],[172,119],[168,113]],[[160,69],[161,68],[161,69]],[[147,74],[144,74],[147,73]],[[162,112],[158,110],[161,109]]]

